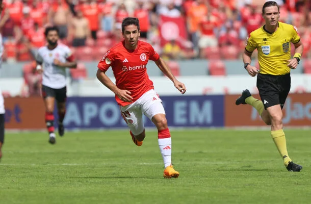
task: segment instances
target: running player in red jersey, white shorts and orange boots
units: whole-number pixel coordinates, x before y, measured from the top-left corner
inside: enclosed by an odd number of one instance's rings
[[[122,117],[137,146],[143,144],[146,136],[142,115],[146,115],[157,126],[159,147],[165,167],[163,175],[166,178],[177,178],[179,173],[171,164],[171,135],[162,100],[154,91],[153,83],[147,74],[148,60],[157,64],[180,93],[184,94],[186,87],[175,79],[170,68],[149,43],[138,40],[140,29],[137,18],[127,17],[122,21],[122,35],[124,40],[108,50],[98,63],[97,79],[115,93]],[[116,84],[105,74],[110,66]]]

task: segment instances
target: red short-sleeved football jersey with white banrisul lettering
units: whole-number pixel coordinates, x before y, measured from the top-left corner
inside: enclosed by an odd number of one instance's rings
[[[134,102],[145,92],[154,88],[147,74],[146,65],[148,60],[157,61],[159,58],[159,54],[149,43],[139,40],[135,50],[128,50],[123,40],[107,51],[98,63],[98,68],[107,71],[111,66],[116,78],[116,86],[119,89],[131,91]],[[131,104],[117,96],[116,101],[120,106]]]

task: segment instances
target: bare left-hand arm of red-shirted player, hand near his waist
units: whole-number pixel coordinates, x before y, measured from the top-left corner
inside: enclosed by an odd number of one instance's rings
[[[114,94],[116,94],[121,100],[126,102],[132,102],[133,97],[130,95],[131,92],[128,90],[121,90],[119,89],[106,75],[106,71],[97,69],[96,77],[101,82],[101,84],[105,85],[107,88],[109,88]]]

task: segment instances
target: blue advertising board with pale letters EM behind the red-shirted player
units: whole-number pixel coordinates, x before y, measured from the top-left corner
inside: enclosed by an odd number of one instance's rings
[[[223,95],[162,96],[161,99],[170,127],[224,126]],[[69,97],[64,125],[67,129],[126,127],[114,97]],[[144,125],[154,126],[147,117]]]

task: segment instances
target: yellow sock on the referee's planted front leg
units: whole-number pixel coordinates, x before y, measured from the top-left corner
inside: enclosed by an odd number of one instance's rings
[[[271,137],[280,152],[281,157],[283,158],[284,165],[287,166],[291,162],[291,158],[288,156],[286,148],[286,139],[283,130],[271,131]]]

